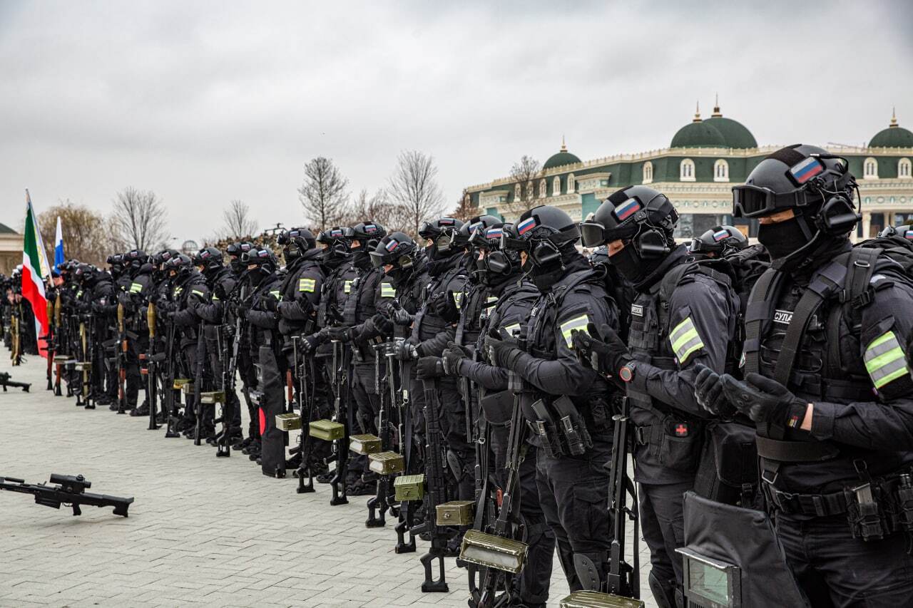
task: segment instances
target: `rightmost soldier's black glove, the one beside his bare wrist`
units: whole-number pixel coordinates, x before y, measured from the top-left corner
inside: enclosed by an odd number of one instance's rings
[[[790,393],[776,380],[750,373],[736,380],[728,373],[721,376],[723,393],[729,403],[755,423],[799,428],[808,403]]]

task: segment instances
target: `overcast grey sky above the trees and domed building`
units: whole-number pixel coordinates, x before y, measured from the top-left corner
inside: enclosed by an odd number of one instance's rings
[[[861,144],[913,127],[913,3],[0,0],[0,222],[132,185],[200,239],[229,200],[304,224],[302,165],[352,191],[397,152],[463,186],[544,161],[668,145],[723,114],[758,142]],[[751,10],[761,8],[763,12]]]

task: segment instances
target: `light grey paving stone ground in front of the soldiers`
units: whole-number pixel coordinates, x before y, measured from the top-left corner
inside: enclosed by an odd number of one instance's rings
[[[294,477],[264,477],[240,453],[216,458],[146,418],[78,408],[45,390],[37,357],[13,368],[3,351],[0,371],[33,383],[0,393],[0,476],[82,474],[89,492],[136,499],[127,519],[94,507],[73,517],[0,492],[0,606],[467,605],[453,559],[450,592],[421,592],[426,543],[394,553],[390,519],[364,527],[367,497],[331,507],[329,486],[299,495]],[[567,592],[556,560],[549,605]]]

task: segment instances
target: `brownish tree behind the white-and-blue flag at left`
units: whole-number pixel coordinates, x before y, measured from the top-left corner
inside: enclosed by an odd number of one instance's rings
[[[49,247],[48,259],[54,259],[54,239],[57,236],[57,218],[63,234],[64,253],[80,262],[103,266],[114,251],[110,236],[105,230],[105,218],[82,204],[67,199],[60,201],[38,215],[41,240]]]

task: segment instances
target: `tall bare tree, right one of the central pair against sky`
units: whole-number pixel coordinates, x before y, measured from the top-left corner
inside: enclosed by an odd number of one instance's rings
[[[441,213],[444,195],[437,185],[435,159],[415,150],[400,152],[390,177],[390,197],[403,209],[409,230],[418,235],[418,226]]]

